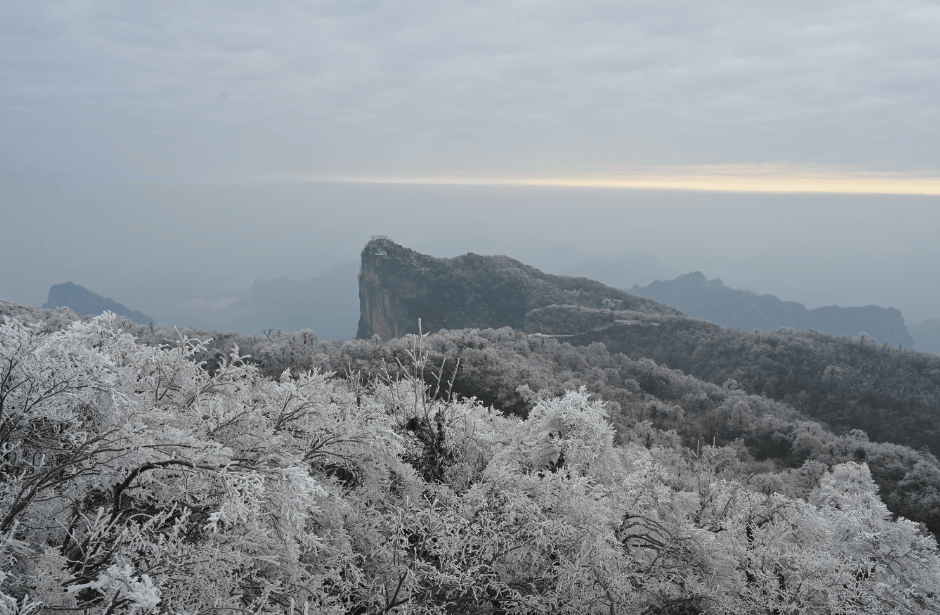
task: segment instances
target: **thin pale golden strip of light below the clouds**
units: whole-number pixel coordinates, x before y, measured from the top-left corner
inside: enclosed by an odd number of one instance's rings
[[[702,165],[631,169],[624,173],[508,173],[351,176],[356,183],[473,184],[637,188],[707,192],[898,194],[940,196],[940,173],[859,172],[822,167]]]

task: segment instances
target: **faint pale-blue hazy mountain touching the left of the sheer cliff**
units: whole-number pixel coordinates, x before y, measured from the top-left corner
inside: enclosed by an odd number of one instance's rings
[[[256,280],[248,295],[218,319],[227,329],[260,334],[266,329],[313,329],[322,340],[349,340],[356,330],[356,261],[340,263],[307,281]]]

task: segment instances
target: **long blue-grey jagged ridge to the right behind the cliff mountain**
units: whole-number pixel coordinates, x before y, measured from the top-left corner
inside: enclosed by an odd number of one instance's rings
[[[742,331],[773,331],[792,327],[832,335],[867,333],[879,342],[907,348],[914,340],[904,326],[901,311],[876,305],[806,309],[802,303],[782,301],[773,295],[757,295],[748,290],[728,288],[720,279],[706,280],[700,271],[680,275],[649,286],[634,286],[631,292],[682,310],[693,318],[708,320]]]

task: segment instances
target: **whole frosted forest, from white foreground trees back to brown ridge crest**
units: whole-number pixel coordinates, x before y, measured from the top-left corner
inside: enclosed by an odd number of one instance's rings
[[[727,368],[510,328],[0,314],[4,612],[940,609],[937,459]]]

